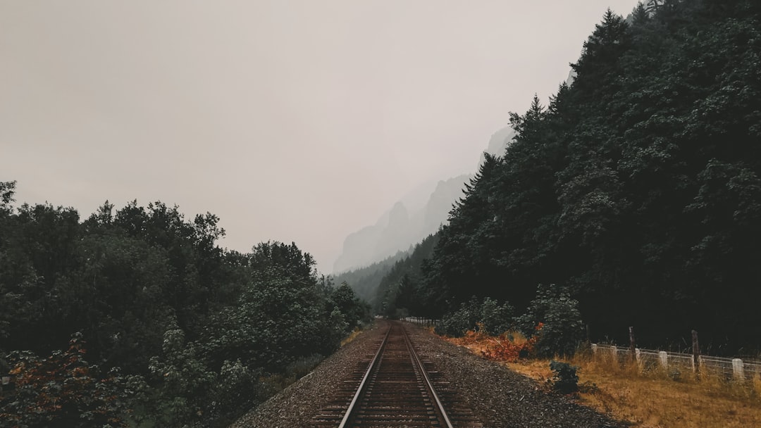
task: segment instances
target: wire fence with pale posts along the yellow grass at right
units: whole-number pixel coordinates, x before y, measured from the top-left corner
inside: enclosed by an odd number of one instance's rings
[[[592,344],[595,357],[610,356],[624,363],[632,360],[632,350],[629,347],[615,345]],[[727,379],[753,379],[761,376],[761,361],[740,360],[740,358],[711,357],[694,355],[692,353],[666,352],[635,348],[634,360],[643,368],[660,366],[667,370],[690,369],[693,372],[714,373]],[[697,363],[697,365],[696,365]]]

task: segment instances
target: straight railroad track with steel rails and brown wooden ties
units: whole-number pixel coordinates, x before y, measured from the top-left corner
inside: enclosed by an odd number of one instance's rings
[[[481,427],[440,374],[427,371],[426,365],[432,362],[420,359],[404,325],[390,322],[377,352],[358,363],[312,426]]]

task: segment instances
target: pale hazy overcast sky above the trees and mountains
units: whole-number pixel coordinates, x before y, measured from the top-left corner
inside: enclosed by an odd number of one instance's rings
[[[542,2],[0,0],[0,181],[77,208],[211,211],[249,251],[343,239],[546,104],[606,8]]]

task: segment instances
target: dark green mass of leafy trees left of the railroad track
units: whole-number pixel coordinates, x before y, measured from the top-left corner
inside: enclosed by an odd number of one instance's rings
[[[13,208],[0,182],[0,426],[226,426],[368,307],[295,244],[216,246],[213,214]]]

